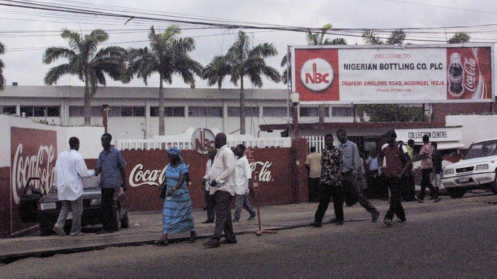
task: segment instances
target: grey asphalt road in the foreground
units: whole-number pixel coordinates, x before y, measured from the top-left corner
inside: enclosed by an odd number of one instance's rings
[[[369,221],[305,227],[241,235],[214,250],[203,249],[204,240],[110,247],[18,260],[0,266],[0,278],[496,277],[497,196],[454,201],[410,204],[408,222],[392,228]],[[356,210],[346,208],[346,219]]]

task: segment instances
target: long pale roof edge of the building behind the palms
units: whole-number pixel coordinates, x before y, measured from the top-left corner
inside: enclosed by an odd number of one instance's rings
[[[253,94],[251,96],[251,91]],[[6,86],[0,97],[82,98],[84,86]],[[95,98],[158,98],[158,87],[100,86]],[[237,88],[164,88],[166,99],[239,99]],[[286,89],[245,89],[245,96],[258,100],[287,100]]]

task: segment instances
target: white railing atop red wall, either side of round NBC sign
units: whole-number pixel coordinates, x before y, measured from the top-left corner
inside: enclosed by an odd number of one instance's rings
[[[243,144],[247,148],[267,148],[267,147],[291,147],[291,138],[258,138],[250,140],[228,141],[229,147]],[[194,149],[187,141],[163,141],[163,140],[116,140],[115,148],[118,150],[154,150],[168,149],[173,146],[179,149]]]

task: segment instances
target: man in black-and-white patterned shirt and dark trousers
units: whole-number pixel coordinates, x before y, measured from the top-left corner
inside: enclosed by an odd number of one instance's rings
[[[333,145],[333,135],[324,136],[326,148],[321,158],[321,185],[319,206],[311,226],[319,228],[323,221],[324,213],[333,197],[335,218],[337,225],[343,225],[343,198],[340,178],[342,175],[343,158],[342,151]]]

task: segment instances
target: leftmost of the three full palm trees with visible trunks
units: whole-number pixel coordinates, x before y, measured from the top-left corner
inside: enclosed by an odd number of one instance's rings
[[[122,80],[125,70],[126,50],[118,46],[108,46],[97,50],[98,46],[108,40],[104,30],[95,29],[82,36],[69,29],[63,29],[61,37],[69,43],[69,48],[49,47],[43,54],[43,63],[50,64],[59,58],[66,58],[67,63],[48,70],[44,82],[57,84],[64,75],[77,75],[85,82],[85,125],[91,125],[91,98],[98,85],[105,86],[105,75],[114,80]]]

